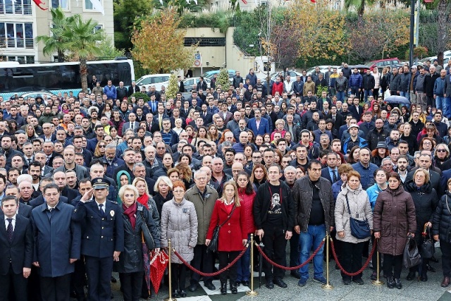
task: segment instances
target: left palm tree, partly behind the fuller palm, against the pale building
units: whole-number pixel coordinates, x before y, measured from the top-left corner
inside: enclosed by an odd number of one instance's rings
[[[51,35],[40,35],[39,37],[36,37],[36,40],[37,42],[44,43],[44,49],[42,49],[42,51],[45,55],[48,56],[54,52],[58,52],[58,61],[62,62],[65,59],[64,51],[66,49],[62,48],[61,43],[63,42],[63,37],[61,35],[64,28],[73,22],[73,16],[66,18],[61,7],[51,8],[50,13],[53,23],[53,26],[50,28]]]

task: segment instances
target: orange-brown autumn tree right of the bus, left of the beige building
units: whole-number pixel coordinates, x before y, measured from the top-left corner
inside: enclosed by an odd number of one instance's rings
[[[132,36],[134,58],[152,73],[192,67],[197,45],[184,46],[185,30],[178,29],[179,23],[173,8],[141,20]]]

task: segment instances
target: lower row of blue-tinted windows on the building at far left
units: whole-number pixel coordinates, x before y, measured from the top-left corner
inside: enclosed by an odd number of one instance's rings
[[[35,48],[32,23],[0,22],[0,48]]]

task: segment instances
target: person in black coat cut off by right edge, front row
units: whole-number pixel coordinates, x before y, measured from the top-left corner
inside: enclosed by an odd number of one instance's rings
[[[438,202],[432,221],[434,240],[440,240],[442,251],[442,287],[450,285],[451,277],[451,179],[447,182],[447,192]]]

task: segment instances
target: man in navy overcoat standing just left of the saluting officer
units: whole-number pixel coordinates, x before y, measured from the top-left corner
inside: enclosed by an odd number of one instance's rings
[[[33,209],[33,265],[39,268],[42,300],[69,300],[70,276],[80,259],[80,224],[72,221],[73,206],[59,202],[58,185],[44,187],[46,202]]]

